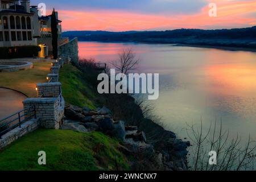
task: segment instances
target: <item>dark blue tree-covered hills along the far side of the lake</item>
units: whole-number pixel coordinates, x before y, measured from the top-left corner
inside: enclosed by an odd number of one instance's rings
[[[256,26],[222,30],[179,29],[166,31],[68,31],[63,36],[79,41],[148,42],[256,48]]]

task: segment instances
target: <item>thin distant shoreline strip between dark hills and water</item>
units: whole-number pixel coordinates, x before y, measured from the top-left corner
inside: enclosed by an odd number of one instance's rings
[[[166,42],[138,42],[138,41],[93,41],[93,40],[79,40],[79,42],[98,42],[98,43],[143,43],[143,44],[172,44],[173,46],[179,47],[198,47],[198,48],[214,48],[221,49],[225,51],[248,51],[256,52],[254,48],[246,47],[228,47],[228,46],[208,46],[208,45],[197,45],[197,44],[182,44],[182,43],[166,43]]]

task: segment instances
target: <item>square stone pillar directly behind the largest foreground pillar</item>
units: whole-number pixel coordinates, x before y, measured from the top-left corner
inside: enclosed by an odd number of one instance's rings
[[[36,84],[38,97],[59,97],[61,90],[60,82],[46,82]]]

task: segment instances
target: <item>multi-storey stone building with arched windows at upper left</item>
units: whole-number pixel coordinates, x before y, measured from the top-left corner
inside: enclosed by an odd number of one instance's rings
[[[67,43],[61,38],[59,19],[57,28],[59,44]],[[14,46],[46,46],[51,51],[51,15],[39,16],[38,6],[30,6],[28,0],[0,0],[0,47]]]

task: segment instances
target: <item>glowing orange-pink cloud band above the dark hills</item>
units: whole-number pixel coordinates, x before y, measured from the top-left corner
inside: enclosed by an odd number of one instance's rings
[[[256,1],[216,1],[217,17],[209,7],[194,15],[152,15],[118,10],[59,11],[63,30],[166,30],[173,28],[230,28],[254,25]]]

